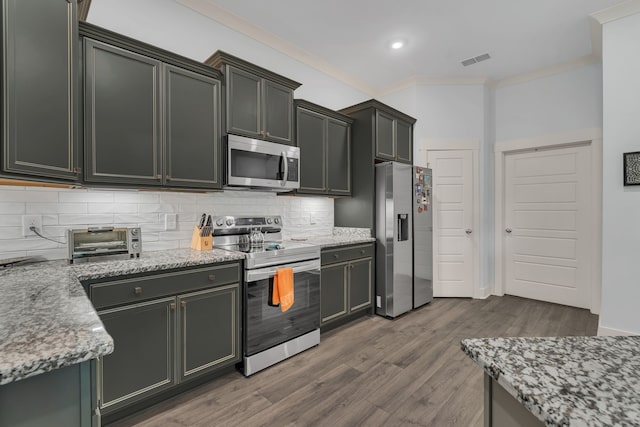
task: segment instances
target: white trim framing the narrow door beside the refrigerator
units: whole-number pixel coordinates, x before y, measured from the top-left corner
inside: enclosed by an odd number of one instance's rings
[[[473,167],[473,236],[471,242],[471,250],[473,254],[473,282],[471,297],[475,299],[484,299],[489,296],[486,289],[480,288],[480,248],[482,247],[482,230],[480,229],[480,140],[479,139],[425,139],[422,141],[422,149],[419,149],[420,161],[423,166],[427,165],[427,155],[429,151],[459,151],[470,150],[471,151],[471,164]],[[419,165],[414,161],[415,165]],[[430,165],[429,165],[430,166]],[[435,211],[435,209],[434,209]],[[434,217],[435,220],[435,217]],[[436,248],[438,247],[438,235],[436,233],[436,227],[433,227],[433,254],[436,254]],[[435,266],[435,263],[434,263]]]

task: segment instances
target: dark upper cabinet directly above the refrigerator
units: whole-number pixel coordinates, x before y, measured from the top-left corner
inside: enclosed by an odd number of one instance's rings
[[[374,156],[376,160],[413,163],[413,125],[416,120],[375,99],[341,110],[352,115],[369,111],[373,122]]]

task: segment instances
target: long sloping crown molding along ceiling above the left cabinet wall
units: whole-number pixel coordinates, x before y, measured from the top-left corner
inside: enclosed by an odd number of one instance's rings
[[[176,3],[181,4],[195,12],[210,18],[225,27],[228,27],[234,31],[244,34],[264,45],[267,45],[297,61],[302,62],[318,71],[321,71],[367,95],[374,96],[376,91],[361,80],[345,73],[342,70],[337,69],[328,62],[325,62],[316,56],[310,54],[304,49],[296,46],[295,44],[278,37],[275,34],[266,31],[260,27],[257,27],[250,22],[240,18],[239,16],[223,9],[219,6],[215,6],[206,0],[176,0]]]

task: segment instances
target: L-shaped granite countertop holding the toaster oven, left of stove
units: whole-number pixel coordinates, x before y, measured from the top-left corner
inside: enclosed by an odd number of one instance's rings
[[[113,340],[80,280],[243,258],[221,249],[178,249],[147,252],[139,259],[0,269],[0,385],[113,352]]]

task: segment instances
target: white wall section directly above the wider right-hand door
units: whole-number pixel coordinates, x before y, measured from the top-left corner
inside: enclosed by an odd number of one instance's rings
[[[602,68],[591,64],[498,87],[496,140],[602,127]]]

